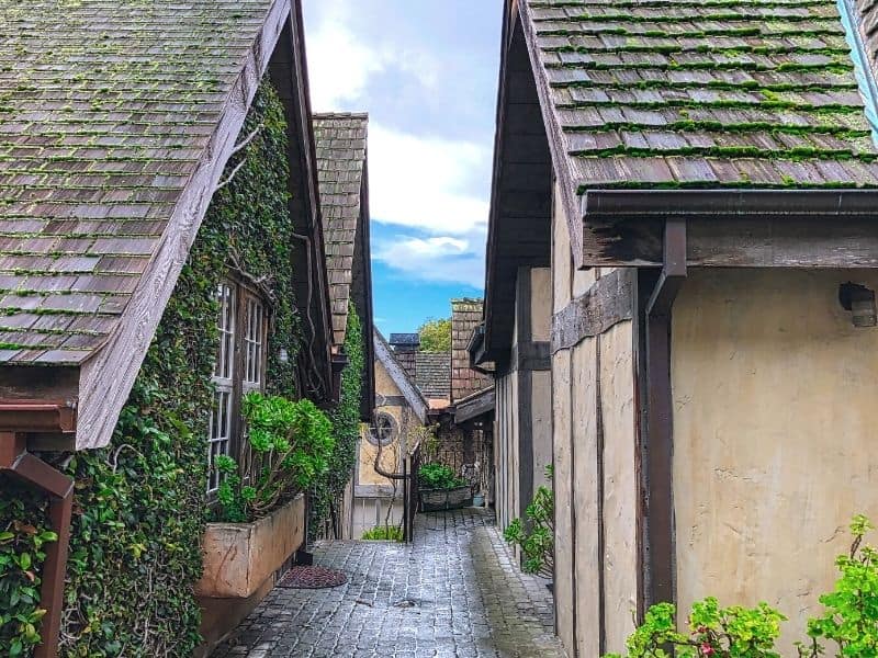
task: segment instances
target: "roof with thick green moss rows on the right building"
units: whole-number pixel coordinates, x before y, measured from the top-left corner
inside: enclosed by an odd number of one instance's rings
[[[878,186],[835,0],[519,5],[555,163],[574,194]],[[859,5],[867,30],[878,10]]]

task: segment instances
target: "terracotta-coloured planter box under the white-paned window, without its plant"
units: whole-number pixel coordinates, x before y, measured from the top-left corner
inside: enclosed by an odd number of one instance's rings
[[[305,497],[254,523],[209,523],[204,532],[204,575],[199,597],[251,597],[305,538]]]

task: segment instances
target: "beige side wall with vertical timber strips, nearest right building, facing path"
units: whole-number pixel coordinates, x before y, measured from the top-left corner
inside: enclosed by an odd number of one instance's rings
[[[582,300],[599,297],[601,279],[620,281],[627,273],[574,270],[567,222],[561,204],[554,207],[551,375],[556,624],[570,655],[590,658],[623,651],[638,602],[634,336],[631,313],[624,313],[633,298],[617,299],[615,315],[595,313],[590,324],[581,317],[581,310],[599,308]],[[573,308],[579,310],[572,314]],[[572,316],[577,321],[560,332],[558,326]],[[598,329],[590,331],[594,326]],[[571,340],[576,332],[582,336]]]

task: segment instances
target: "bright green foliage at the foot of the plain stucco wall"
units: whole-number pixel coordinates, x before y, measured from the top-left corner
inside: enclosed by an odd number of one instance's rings
[[[871,529],[865,517],[854,518],[851,552],[835,563],[842,576],[831,593],[820,597],[825,613],[809,620],[809,640],[796,645],[799,658],[824,656],[821,639],[838,647],[838,658],[878,656],[878,552],[862,545]],[[780,658],[775,644],[786,619],[767,603],[720,608],[717,599],[709,597],[693,604],[688,629],[682,633],[677,631],[676,608],[658,603],[646,611],[643,624],[626,647],[629,658],[667,658],[669,647],[677,658]],[[605,658],[620,656],[608,654]]]

